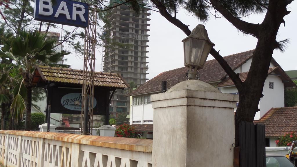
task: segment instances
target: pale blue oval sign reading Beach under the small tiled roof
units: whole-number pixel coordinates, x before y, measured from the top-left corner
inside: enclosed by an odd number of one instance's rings
[[[81,111],[81,100],[81,93],[68,93],[61,98],[61,104],[69,110]],[[97,101],[93,97],[93,108],[95,108],[96,104]]]

